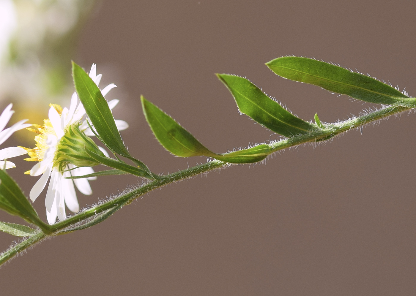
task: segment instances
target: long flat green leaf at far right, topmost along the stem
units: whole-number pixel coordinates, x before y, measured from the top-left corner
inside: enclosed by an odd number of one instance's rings
[[[315,59],[305,57],[280,57],[266,63],[277,75],[314,84],[354,99],[378,104],[413,104],[397,89],[363,74],[351,72]]]

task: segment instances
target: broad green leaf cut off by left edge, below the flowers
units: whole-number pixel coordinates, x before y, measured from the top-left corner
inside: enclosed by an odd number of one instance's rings
[[[26,221],[44,227],[35,209],[25,197],[17,183],[4,171],[0,170],[0,207],[11,215],[17,215]]]

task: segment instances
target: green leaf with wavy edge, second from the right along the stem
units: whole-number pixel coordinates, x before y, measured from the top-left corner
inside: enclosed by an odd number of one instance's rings
[[[217,74],[217,76],[233,94],[240,112],[250,116],[262,126],[287,137],[315,129],[310,123],[294,116],[270,99],[247,79],[227,74]]]

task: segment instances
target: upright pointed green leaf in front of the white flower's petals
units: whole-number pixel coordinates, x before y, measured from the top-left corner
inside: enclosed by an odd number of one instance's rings
[[[102,142],[113,152],[130,157],[106,99],[88,74],[72,62],[75,89]]]

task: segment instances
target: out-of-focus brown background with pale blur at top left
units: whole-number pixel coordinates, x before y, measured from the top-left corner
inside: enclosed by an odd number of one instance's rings
[[[69,104],[71,59],[87,70],[97,63],[101,85],[117,84],[107,99],[120,99],[113,113],[130,124],[126,145],[156,173],[205,158],[166,152],[140,94],[218,153],[278,135],[238,113],[217,72],[247,77],[305,120],[317,112],[336,121],[371,105],[279,78],[265,62],[314,57],[416,95],[416,2],[0,0],[0,7],[1,105],[14,102],[13,119],[42,124],[47,104]],[[266,165],[151,192],[10,261],[0,269],[2,294],[414,295],[415,123],[405,113],[317,148],[287,149]],[[34,145],[29,131],[16,136],[6,144]],[[22,173],[32,163],[16,159],[8,172],[28,194],[37,178]],[[78,200],[91,205],[138,183],[102,177]],[[44,195],[34,204],[42,218]],[[0,220],[20,222],[4,213]],[[0,234],[1,249],[12,240]]]

